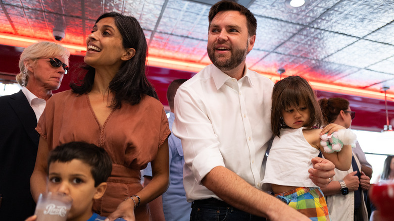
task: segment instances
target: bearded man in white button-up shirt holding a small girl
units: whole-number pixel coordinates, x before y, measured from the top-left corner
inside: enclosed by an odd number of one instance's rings
[[[233,2],[209,14],[209,65],[175,96],[173,132],[182,140],[183,184],[191,220],[309,220],[260,189],[270,129],[273,82],[247,69],[256,39],[253,14]],[[334,165],[316,159],[314,183],[325,186]]]

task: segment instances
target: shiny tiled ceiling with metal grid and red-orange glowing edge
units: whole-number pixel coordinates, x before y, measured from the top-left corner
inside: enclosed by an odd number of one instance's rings
[[[0,0],[0,34],[85,45],[104,12],[134,16],[150,56],[206,65],[208,12],[216,1],[186,0]],[[247,65],[260,73],[301,75],[308,80],[394,94],[394,1],[316,0],[300,8],[285,0],[242,1],[258,30]]]

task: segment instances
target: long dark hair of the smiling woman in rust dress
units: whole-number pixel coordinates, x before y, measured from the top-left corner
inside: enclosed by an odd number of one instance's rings
[[[119,71],[110,82],[109,90],[115,95],[111,102],[111,107],[120,108],[122,101],[132,105],[137,104],[144,94],[158,99],[154,87],[145,75],[147,44],[138,21],[131,16],[110,12],[101,15],[95,24],[107,17],[115,19],[115,25],[122,35],[123,47],[135,49],[134,57],[123,62]],[[72,90],[78,94],[90,92],[94,81],[95,69],[89,65],[85,65],[82,68],[87,70],[83,80],[77,80],[77,83],[73,82],[70,84]]]

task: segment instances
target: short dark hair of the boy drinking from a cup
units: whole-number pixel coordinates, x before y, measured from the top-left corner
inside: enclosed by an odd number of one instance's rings
[[[111,175],[112,160],[108,153],[103,148],[85,142],[69,142],[57,146],[48,156],[48,169],[53,162],[70,162],[73,159],[90,165],[94,187],[106,182]]]

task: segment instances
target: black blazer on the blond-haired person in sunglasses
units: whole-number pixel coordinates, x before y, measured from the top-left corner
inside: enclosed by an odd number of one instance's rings
[[[0,97],[0,220],[34,214],[30,176],[37,156],[37,120],[25,94]]]

